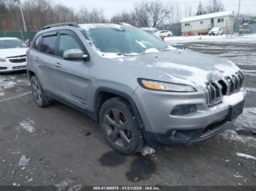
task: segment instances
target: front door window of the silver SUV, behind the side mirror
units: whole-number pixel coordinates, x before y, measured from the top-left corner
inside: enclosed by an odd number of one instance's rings
[[[78,42],[74,39],[74,37],[69,36],[67,34],[61,34],[59,39],[59,56],[63,57],[63,54],[66,50],[69,49],[80,49],[80,45]]]

